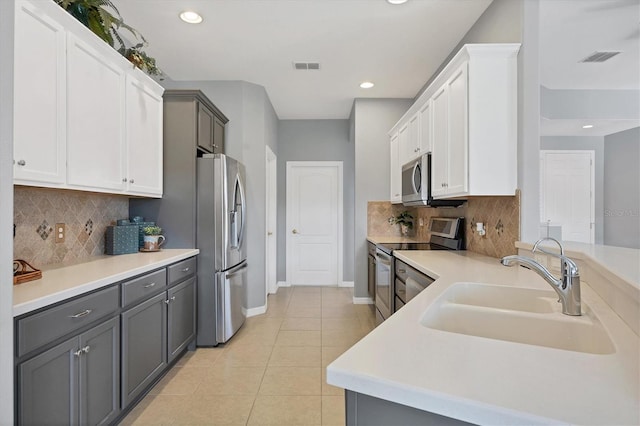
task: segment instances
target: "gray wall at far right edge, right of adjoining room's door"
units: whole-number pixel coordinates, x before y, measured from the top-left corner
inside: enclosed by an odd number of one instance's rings
[[[640,249],[640,127],[604,138],[604,243]]]

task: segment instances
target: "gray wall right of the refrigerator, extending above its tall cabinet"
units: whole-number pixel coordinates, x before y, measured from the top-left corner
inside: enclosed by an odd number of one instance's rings
[[[262,86],[244,81],[165,81],[167,89],[200,89],[229,118],[225,152],[241,161],[247,172],[247,300],[246,307],[266,304],[265,239],[266,151],[277,153],[277,121]]]

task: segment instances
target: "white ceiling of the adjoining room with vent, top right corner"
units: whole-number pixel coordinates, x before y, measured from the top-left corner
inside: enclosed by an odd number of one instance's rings
[[[596,51],[621,53],[603,63],[580,62]],[[638,90],[640,102],[640,0],[542,0],[540,80],[549,89]],[[606,136],[638,125],[640,117],[541,117],[540,134]]]

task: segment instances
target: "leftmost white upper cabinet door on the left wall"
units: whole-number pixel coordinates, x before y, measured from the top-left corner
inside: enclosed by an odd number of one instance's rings
[[[16,3],[13,147],[16,183],[64,184],[64,46],[62,25],[30,3]]]

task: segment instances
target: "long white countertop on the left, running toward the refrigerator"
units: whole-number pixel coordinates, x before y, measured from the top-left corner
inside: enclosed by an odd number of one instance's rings
[[[162,268],[198,253],[198,249],[163,249],[154,253],[100,256],[71,266],[43,268],[41,279],[13,286],[13,316]]]

